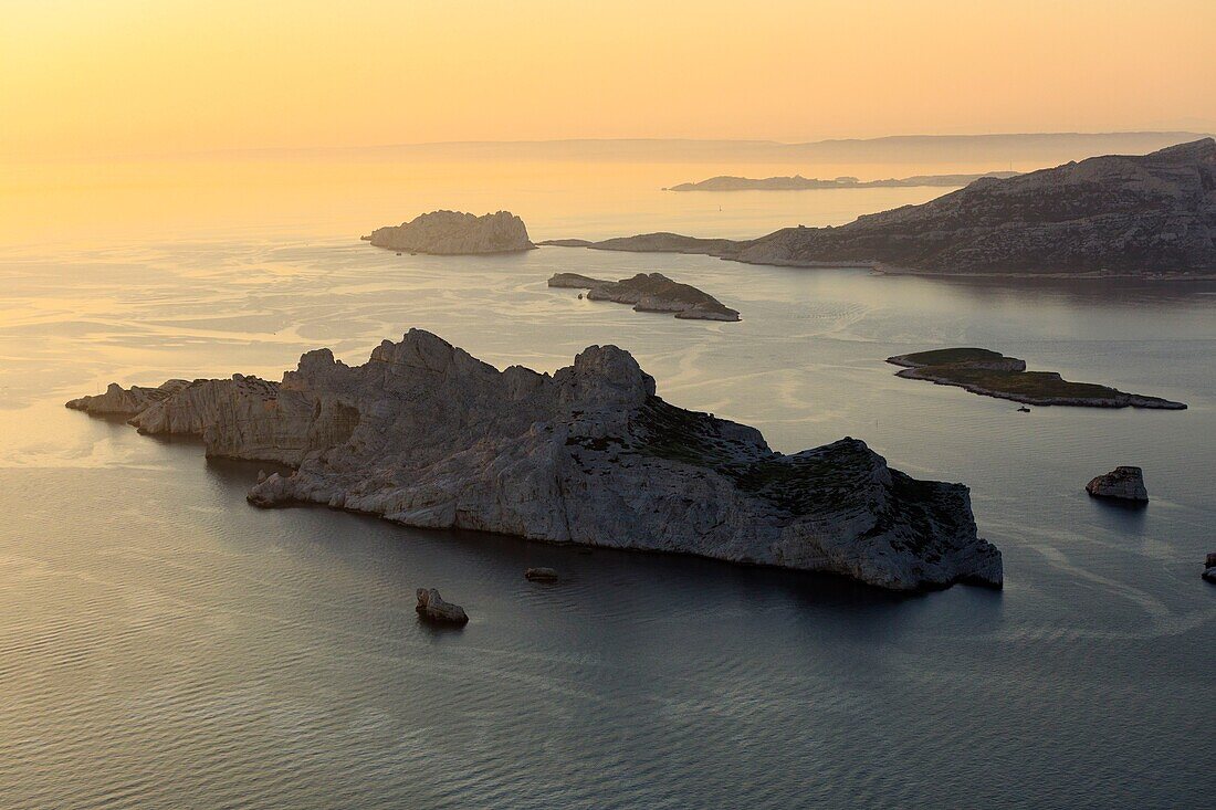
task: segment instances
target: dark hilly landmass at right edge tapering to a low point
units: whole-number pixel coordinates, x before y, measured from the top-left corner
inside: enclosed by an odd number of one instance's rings
[[[962,275],[1216,277],[1216,140],[983,178],[921,206],[756,240],[550,242],[790,266]]]

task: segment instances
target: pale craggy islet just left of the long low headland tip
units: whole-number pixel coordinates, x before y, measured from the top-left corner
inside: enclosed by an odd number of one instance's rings
[[[376,247],[411,253],[471,255],[530,251],[524,221],[507,210],[477,216],[455,210],[437,210],[409,223],[377,227],[362,237]]]

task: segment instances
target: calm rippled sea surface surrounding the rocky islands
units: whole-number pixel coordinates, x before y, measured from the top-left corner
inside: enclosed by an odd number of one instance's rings
[[[676,199],[652,185],[580,207],[542,184],[502,207],[535,238],[745,236],[938,193]],[[0,248],[0,808],[1211,806],[1216,587],[1199,573],[1216,551],[1216,287],[563,248],[396,257],[356,237],[434,206],[406,195],[389,214],[389,197],[334,203],[362,227],[315,214],[259,229],[246,212],[247,226],[181,238]],[[744,320],[545,285],[653,270]],[[755,424],[777,449],[854,435],[914,476],[967,483],[1006,589],[896,598],[259,511],[244,501],[258,465],[62,407],[109,381],[277,378],[319,345],[361,362],[409,327],[500,367],[552,371],[615,343],[669,401]],[[883,362],[959,344],[1190,409],[1018,414]],[[1120,463],[1144,467],[1147,508],[1086,496]],[[563,579],[528,583],[529,566]],[[471,624],[420,625],[422,585]]]

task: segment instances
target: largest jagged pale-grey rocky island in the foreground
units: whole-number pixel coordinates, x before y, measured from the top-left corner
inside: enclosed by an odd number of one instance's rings
[[[281,462],[249,491],[407,525],[832,572],[885,589],[1000,586],[962,484],[917,480],[845,438],[793,455],[687,411],[613,345],[553,375],[503,371],[411,330],[360,366],[328,349],[281,383],[236,375],[68,403],[207,454]]]

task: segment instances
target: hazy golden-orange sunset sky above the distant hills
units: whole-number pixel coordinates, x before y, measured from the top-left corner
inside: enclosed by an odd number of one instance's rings
[[[0,158],[1211,131],[1214,43],[1214,0],[0,0]]]

